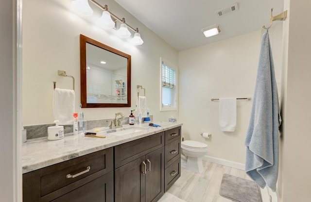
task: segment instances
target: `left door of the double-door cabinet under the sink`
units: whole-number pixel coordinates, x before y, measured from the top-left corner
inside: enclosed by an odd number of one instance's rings
[[[115,202],[145,202],[145,165],[142,156],[115,170]]]

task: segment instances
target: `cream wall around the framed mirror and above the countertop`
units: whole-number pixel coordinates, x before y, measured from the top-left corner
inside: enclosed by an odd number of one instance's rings
[[[160,112],[160,57],[178,65],[178,52],[142,25],[114,0],[98,0],[107,4],[118,17],[125,17],[139,28],[144,44],[134,46],[115,36],[115,30],[103,30],[93,24],[101,10],[92,6],[92,17],[78,17],[70,11],[70,0],[27,0],[23,2],[23,124],[52,123],[53,81],[59,88],[72,89],[72,80],[57,75],[65,70],[75,77],[75,106],[80,103],[79,35],[83,34],[132,56],[132,107],[85,108],[86,119],[114,118],[122,112],[129,116],[135,108],[137,85],[146,89],[147,104],[156,120],[167,120],[178,111]],[[119,24],[118,24],[119,26]]]

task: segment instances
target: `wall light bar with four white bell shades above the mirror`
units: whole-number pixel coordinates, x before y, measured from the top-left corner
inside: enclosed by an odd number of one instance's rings
[[[143,40],[140,37],[140,34],[138,33],[138,28],[134,29],[131,27],[129,24],[125,23],[125,18],[123,17],[122,19],[117,17],[116,15],[112,14],[110,11],[108,11],[108,6],[104,5],[102,6],[95,0],[89,0],[92,3],[94,3],[97,7],[103,10],[102,17],[98,19],[100,22],[100,26],[103,26],[104,28],[116,28],[117,26],[117,21],[121,22],[120,28],[117,31],[117,34],[120,37],[123,38],[128,38],[132,34],[129,31],[132,30],[135,32],[134,37],[131,39],[131,42],[134,45],[141,45],[143,44]],[[72,0],[72,7],[79,13],[85,15],[85,16],[90,16],[93,14],[92,8],[88,4],[88,0]],[[79,6],[78,6],[79,4]],[[88,10],[88,12],[86,12]],[[90,12],[91,11],[91,12]],[[86,15],[88,14],[88,15]]]

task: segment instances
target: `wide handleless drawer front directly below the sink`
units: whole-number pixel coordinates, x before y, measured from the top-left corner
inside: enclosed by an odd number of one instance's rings
[[[115,168],[119,168],[164,146],[164,132],[115,146]]]

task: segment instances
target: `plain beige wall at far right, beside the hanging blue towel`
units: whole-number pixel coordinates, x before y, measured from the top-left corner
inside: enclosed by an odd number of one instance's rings
[[[282,96],[282,138],[279,202],[308,202],[310,192],[311,24],[310,1],[285,0],[285,51]],[[290,9],[289,9],[290,8]],[[285,50],[287,47],[285,46]]]

